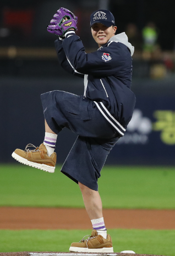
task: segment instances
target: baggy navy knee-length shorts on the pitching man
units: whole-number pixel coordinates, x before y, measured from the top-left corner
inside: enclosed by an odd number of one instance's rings
[[[83,96],[51,91],[43,93],[41,101],[46,122],[54,133],[67,127],[78,135],[62,166],[62,173],[97,191],[100,171],[120,135],[95,103]]]

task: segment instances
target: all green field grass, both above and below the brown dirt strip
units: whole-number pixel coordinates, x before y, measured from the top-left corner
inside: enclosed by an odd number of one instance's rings
[[[84,207],[78,185],[60,173],[21,164],[0,165],[0,206]],[[105,166],[99,179],[103,208],[175,208],[175,168]],[[1,208],[0,208],[1,210]],[[0,252],[68,252],[90,230],[0,230]],[[175,256],[175,230],[108,229],[114,252]]]

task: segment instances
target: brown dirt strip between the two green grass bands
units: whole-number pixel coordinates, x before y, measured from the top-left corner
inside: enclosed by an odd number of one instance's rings
[[[109,228],[175,229],[175,210],[104,209]],[[85,209],[1,207],[0,229],[91,229]]]

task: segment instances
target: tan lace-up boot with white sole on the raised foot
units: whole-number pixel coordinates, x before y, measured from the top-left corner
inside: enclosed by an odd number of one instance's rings
[[[30,150],[28,147],[34,147],[35,149]],[[57,161],[57,154],[54,152],[51,156],[48,156],[47,149],[43,143],[40,147],[28,144],[25,150],[16,149],[12,153],[12,157],[22,164],[48,171],[49,173],[54,173]]]

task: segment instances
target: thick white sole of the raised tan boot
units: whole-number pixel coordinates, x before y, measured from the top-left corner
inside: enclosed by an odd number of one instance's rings
[[[12,153],[12,157],[15,160],[19,161],[19,163],[21,163],[21,164],[29,165],[31,167],[34,167],[34,168],[37,168],[37,169],[40,169],[40,170],[43,170],[43,171],[48,171],[48,173],[54,173],[55,167],[52,167],[52,166],[49,166],[49,165],[46,165],[46,164],[38,164],[38,163],[28,161],[27,159],[22,158],[20,155],[17,155],[14,152]]]

